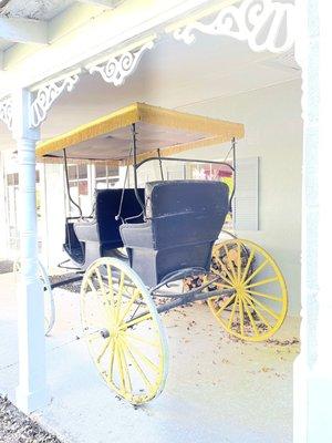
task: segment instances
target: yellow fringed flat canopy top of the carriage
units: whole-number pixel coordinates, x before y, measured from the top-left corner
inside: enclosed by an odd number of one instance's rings
[[[134,123],[138,161],[156,156],[158,150],[162,156],[170,156],[245,135],[240,123],[134,103],[39,143],[37,156],[48,163],[61,162],[65,150],[68,158],[74,163],[106,161],[124,165],[129,161]]]

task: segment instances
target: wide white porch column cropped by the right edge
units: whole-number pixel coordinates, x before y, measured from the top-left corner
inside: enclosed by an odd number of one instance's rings
[[[301,354],[294,364],[294,443],[332,442],[331,16],[329,2],[298,0],[303,69]],[[300,33],[299,33],[300,35]]]

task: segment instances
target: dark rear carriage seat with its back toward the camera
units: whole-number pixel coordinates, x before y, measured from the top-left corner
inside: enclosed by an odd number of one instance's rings
[[[120,228],[133,269],[154,287],[187,268],[208,270],[228,213],[221,182],[153,182],[145,188],[146,222]]]

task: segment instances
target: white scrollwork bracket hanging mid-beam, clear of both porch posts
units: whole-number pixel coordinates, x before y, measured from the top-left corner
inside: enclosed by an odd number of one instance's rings
[[[98,72],[105,82],[113,83],[114,86],[121,86],[126,78],[134,73],[144,52],[153,49],[153,47],[154,42],[151,40],[134,50],[126,50],[115,56],[111,55],[85,68],[91,74]]]

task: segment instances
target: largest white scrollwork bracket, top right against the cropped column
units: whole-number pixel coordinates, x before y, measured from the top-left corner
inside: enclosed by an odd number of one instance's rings
[[[247,41],[256,52],[274,53],[291,49],[295,40],[295,7],[272,0],[243,0],[239,6],[224,7],[210,23],[194,21],[174,31],[176,40],[190,44],[194,31],[228,35]],[[284,35],[282,35],[282,33]]]

